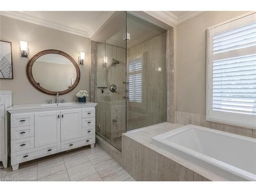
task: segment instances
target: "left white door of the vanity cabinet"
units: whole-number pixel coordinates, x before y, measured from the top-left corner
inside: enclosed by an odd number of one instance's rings
[[[60,112],[35,113],[35,147],[60,142]]]

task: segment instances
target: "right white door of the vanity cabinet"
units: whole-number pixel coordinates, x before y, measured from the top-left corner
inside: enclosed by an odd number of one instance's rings
[[[76,139],[82,136],[81,110],[63,110],[61,115],[61,141]]]

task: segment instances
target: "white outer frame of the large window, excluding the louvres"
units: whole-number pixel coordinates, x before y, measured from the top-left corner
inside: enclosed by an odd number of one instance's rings
[[[206,121],[224,123],[247,127],[256,130],[256,116],[240,113],[221,112],[212,110],[212,80],[213,80],[213,36],[218,27],[218,33],[227,31],[234,27],[239,27],[249,23],[251,18],[256,17],[256,12],[249,12],[241,16],[232,18],[221,24],[207,28],[206,33]]]

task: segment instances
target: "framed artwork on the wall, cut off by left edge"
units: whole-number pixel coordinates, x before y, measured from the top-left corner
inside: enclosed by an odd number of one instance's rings
[[[0,40],[0,78],[12,79],[12,43]]]

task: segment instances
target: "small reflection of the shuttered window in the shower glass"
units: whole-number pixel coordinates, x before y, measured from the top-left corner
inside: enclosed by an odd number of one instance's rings
[[[142,102],[142,55],[128,59],[128,100]]]

